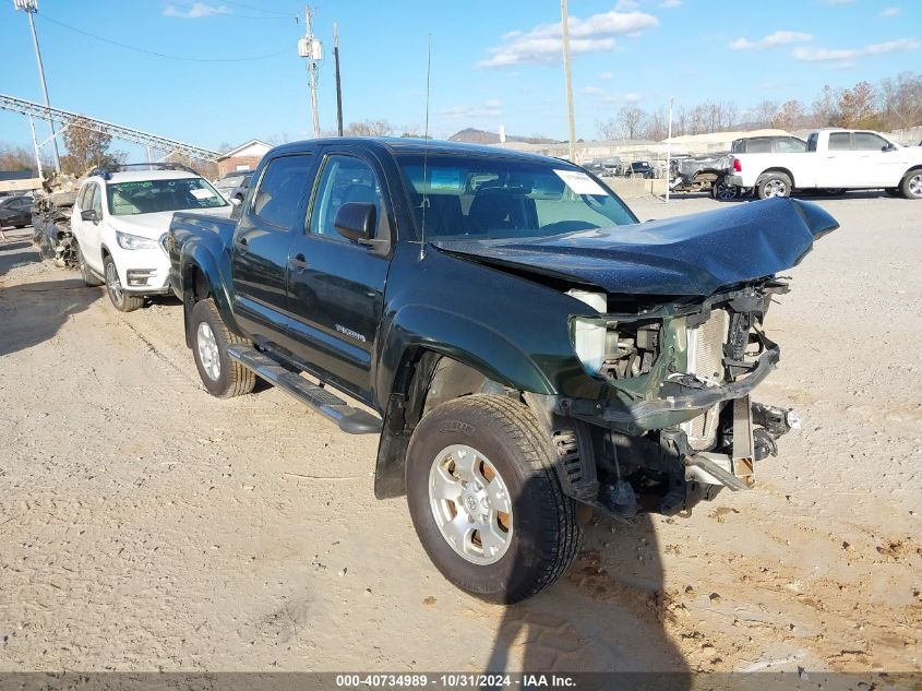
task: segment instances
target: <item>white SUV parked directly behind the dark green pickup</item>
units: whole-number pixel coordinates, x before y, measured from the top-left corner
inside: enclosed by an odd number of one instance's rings
[[[231,209],[201,176],[172,164],[93,170],[71,215],[83,281],[88,286],[105,283],[116,309],[136,310],[145,295],[170,293],[163,242],[172,212],[227,215]]]

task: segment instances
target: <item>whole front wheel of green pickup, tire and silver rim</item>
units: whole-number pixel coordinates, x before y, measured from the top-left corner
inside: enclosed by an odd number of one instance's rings
[[[476,394],[414,430],[407,503],[429,558],[454,585],[511,604],[560,579],[579,547],[547,432],[524,404]]]

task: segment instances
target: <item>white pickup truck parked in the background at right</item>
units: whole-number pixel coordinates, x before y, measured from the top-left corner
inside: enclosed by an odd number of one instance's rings
[[[866,130],[819,130],[803,153],[734,154],[726,183],[752,188],[759,199],[794,189],[884,189],[922,199],[922,148]]]

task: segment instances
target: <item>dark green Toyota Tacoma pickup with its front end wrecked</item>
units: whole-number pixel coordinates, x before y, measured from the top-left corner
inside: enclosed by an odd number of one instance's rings
[[[564,160],[335,139],[272,150],[229,219],[177,213],[165,246],[205,388],[260,377],[380,434],[375,495],[406,495],[450,581],[512,603],[592,512],[753,486],[797,425],[750,400],[777,273],[836,227],[789,199],[639,223]]]

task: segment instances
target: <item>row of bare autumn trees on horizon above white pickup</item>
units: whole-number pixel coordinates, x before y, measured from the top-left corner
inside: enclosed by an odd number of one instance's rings
[[[859,82],[851,88],[824,86],[811,104],[798,99],[763,100],[741,110],[732,102],[706,100],[692,108],[673,110],[672,135],[706,134],[731,130],[777,128],[799,130],[821,127],[866,128],[890,131],[922,124],[922,73],[902,72],[876,85]],[[634,104],[623,106],[613,117],[597,123],[599,139],[644,139],[668,136],[664,107],[652,111]]]

